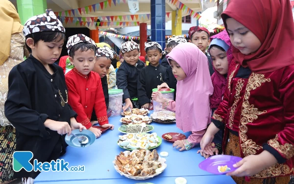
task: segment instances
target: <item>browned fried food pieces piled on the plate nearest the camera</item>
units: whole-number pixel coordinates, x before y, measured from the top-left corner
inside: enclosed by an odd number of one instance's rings
[[[147,155],[146,150],[139,150],[128,156],[121,152],[120,155],[116,156],[115,165],[118,166],[120,171],[131,176],[148,176],[155,174],[157,169],[163,167],[158,159],[156,150],[153,150],[149,155]],[[160,173],[164,169],[163,167],[157,172]]]

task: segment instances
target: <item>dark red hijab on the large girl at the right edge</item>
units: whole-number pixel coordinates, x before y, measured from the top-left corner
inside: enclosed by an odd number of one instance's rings
[[[236,11],[241,10],[242,11]],[[233,48],[233,55],[243,67],[255,73],[267,73],[294,64],[294,23],[290,0],[231,0],[221,14],[247,27],[262,43],[251,54]]]

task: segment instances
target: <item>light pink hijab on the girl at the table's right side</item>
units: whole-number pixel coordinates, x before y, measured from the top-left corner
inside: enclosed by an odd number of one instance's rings
[[[181,43],[167,55],[177,62],[187,78],[176,85],[176,126],[182,131],[201,131],[211,122],[209,98],[213,86],[207,66],[207,57],[192,43]]]

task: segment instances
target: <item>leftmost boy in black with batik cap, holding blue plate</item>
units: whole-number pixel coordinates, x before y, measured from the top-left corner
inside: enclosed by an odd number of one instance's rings
[[[5,116],[16,128],[16,151],[32,152],[31,164],[34,159],[50,162],[66,152],[62,134],[85,129],[68,104],[63,70],[53,64],[60,56],[65,29],[48,9],[30,18],[23,32],[31,55],[9,73]],[[14,178],[32,184],[39,173],[22,169]]]

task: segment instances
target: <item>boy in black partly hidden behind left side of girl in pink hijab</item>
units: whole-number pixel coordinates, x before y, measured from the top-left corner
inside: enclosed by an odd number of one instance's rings
[[[177,46],[178,44],[180,43],[186,43],[187,40],[184,36],[182,35],[178,35],[178,36],[175,36],[173,35],[171,38],[168,39],[168,45],[167,45],[167,54],[170,53],[172,51],[172,49]],[[176,83],[177,83],[177,80],[175,79],[175,77],[173,76],[172,74],[172,67],[171,65],[169,64],[167,58],[165,58],[162,62],[164,63],[166,60],[167,64],[168,64],[168,68],[167,68],[167,71],[165,73],[165,77],[164,77],[164,84],[161,84],[162,86],[165,86],[165,87],[168,87],[168,88],[172,88],[174,89],[174,94],[173,94],[173,99],[175,101],[175,96],[176,96]]]

